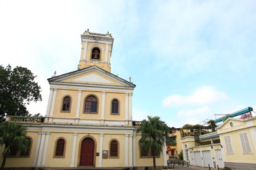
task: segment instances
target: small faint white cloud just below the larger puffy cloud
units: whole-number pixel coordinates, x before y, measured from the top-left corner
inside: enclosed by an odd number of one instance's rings
[[[209,113],[210,109],[205,106],[203,108],[196,108],[196,109],[184,109],[181,111],[178,111],[177,116],[183,117],[183,116],[195,116],[195,115],[206,115]]]

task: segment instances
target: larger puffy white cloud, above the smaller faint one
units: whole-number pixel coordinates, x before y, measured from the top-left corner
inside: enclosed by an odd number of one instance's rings
[[[162,101],[163,106],[183,106],[187,104],[207,104],[225,101],[228,95],[224,92],[215,91],[211,86],[203,86],[190,96],[174,94],[167,96]]]

